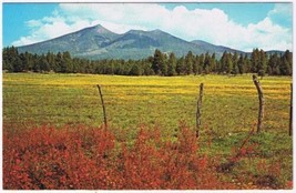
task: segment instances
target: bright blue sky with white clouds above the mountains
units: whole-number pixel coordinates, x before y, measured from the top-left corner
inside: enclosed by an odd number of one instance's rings
[[[160,29],[242,51],[293,50],[292,3],[3,3],[3,45],[24,45],[102,24]]]

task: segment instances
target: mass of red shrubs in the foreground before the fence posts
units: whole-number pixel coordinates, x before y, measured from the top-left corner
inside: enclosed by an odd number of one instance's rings
[[[183,125],[176,142],[141,128],[126,148],[102,128],[42,126],[3,131],[7,190],[235,189],[222,182],[212,160],[197,153],[195,134]]]

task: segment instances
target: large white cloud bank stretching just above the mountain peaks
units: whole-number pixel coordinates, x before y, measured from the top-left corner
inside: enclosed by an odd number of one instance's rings
[[[31,35],[22,37],[14,45],[38,42],[73,32],[90,26],[124,33],[131,29],[161,29],[173,35],[191,40],[205,40],[244,51],[253,48],[265,50],[292,49],[292,30],[274,20],[290,9],[276,4],[258,23],[243,27],[220,9],[188,10],[183,6],[173,10],[155,3],[61,3],[52,16],[31,20]]]

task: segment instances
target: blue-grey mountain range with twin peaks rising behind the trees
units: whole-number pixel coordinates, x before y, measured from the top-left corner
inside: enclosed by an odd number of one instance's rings
[[[47,52],[69,51],[72,57],[88,59],[143,59],[153,55],[155,49],[174,52],[177,57],[188,51],[194,54],[216,53],[221,58],[224,51],[245,53],[202,40],[185,41],[161,30],[130,30],[123,34],[114,33],[101,24],[64,34],[39,43],[18,47],[20,52],[42,54]]]

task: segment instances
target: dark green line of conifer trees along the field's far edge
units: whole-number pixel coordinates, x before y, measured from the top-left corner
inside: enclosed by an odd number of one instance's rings
[[[120,75],[188,75],[188,74],[243,74],[292,75],[293,53],[266,54],[254,49],[251,54],[224,52],[220,60],[216,54],[193,54],[181,58],[174,53],[155,50],[153,57],[142,60],[88,60],[72,58],[70,52],[48,52],[47,54],[19,53],[14,47],[4,48],[3,70],[8,72],[58,72],[95,73]]]

